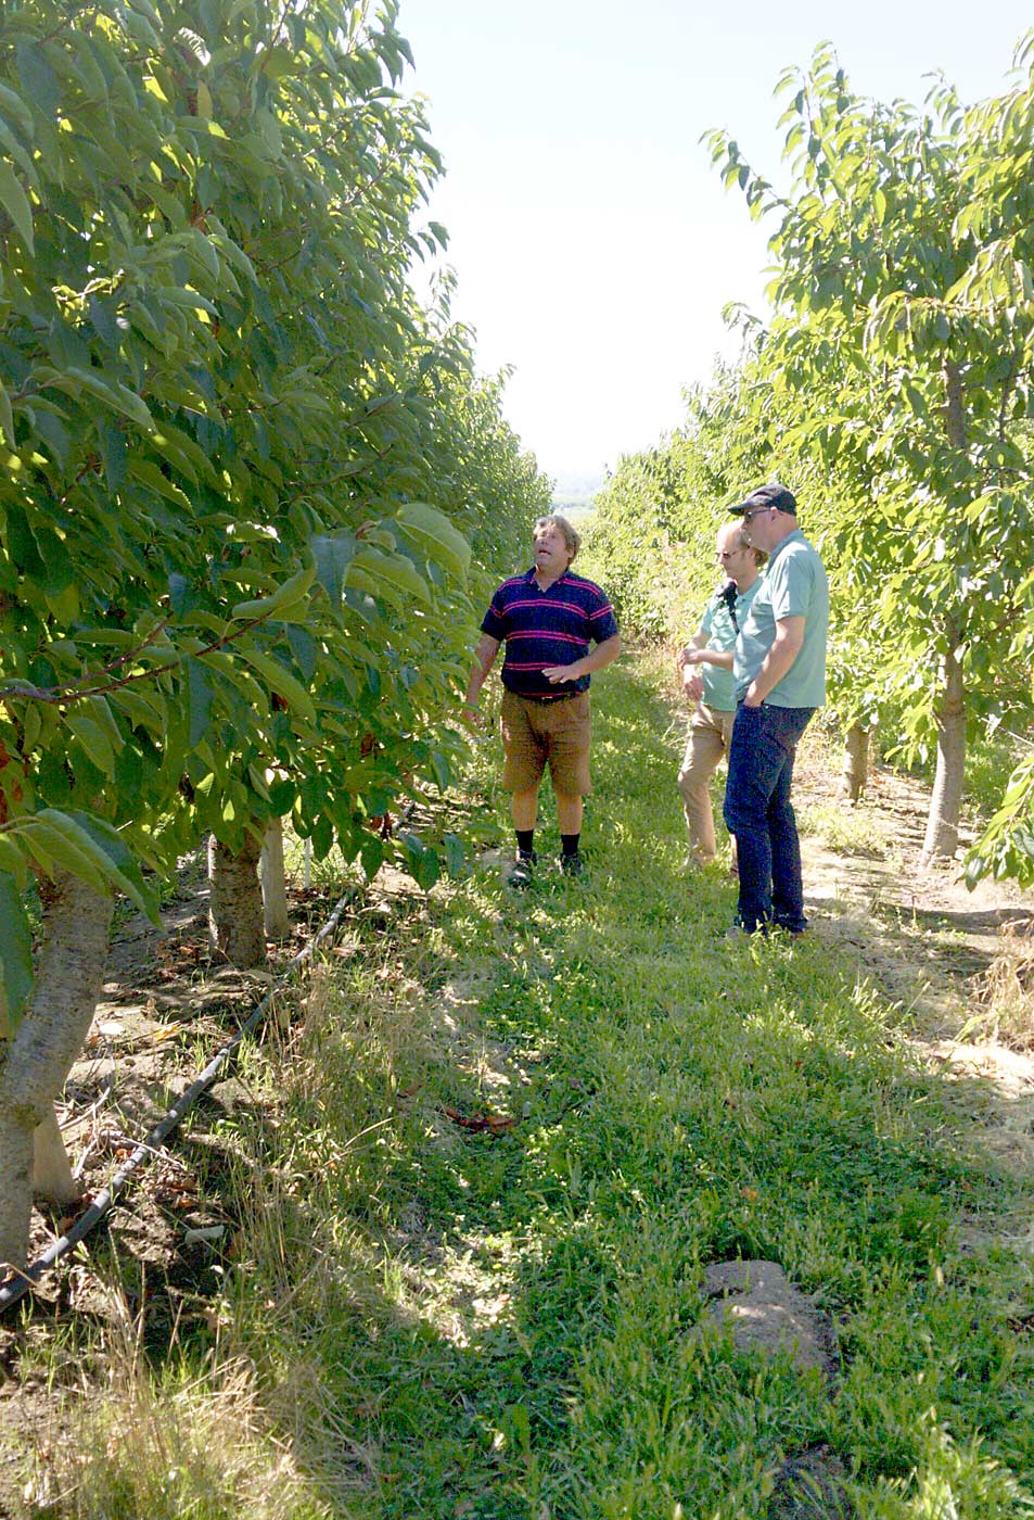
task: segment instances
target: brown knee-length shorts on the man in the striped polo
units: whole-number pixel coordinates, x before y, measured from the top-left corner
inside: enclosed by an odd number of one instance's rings
[[[589,796],[589,693],[563,702],[533,702],[503,692],[503,789],[533,792],[550,766],[553,790]]]

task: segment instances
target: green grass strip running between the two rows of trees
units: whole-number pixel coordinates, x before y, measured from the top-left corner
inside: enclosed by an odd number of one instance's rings
[[[859,1517],[1034,1512],[1034,1272],[999,1230],[1029,1189],[843,959],[723,942],[727,883],[677,869],[662,679],[597,682],[588,880],[516,895],[475,863],[357,914],[255,1056],[210,1333],[150,1368],[105,1353],[129,1373],[47,1514],[261,1514],[234,1496],[246,1452],[284,1464],[292,1520],[756,1520],[820,1444]],[[478,748],[484,845],[509,839],[495,766]],[[736,1256],[831,1315],[832,1394],[694,1339],[701,1265]],[[146,1418],[120,1446],[128,1386]],[[205,1458],[173,1497],[96,1487],[170,1446]]]

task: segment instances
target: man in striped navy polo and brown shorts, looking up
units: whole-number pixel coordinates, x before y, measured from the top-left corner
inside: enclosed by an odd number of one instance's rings
[[[621,640],[604,593],[571,572],[580,543],[565,517],[537,520],[534,564],[504,581],[492,597],[463,702],[466,720],[480,722],[477,699],[506,643],[503,786],[512,793],[518,844],[507,877],[512,886],[528,886],[534,877],[534,824],[547,765],[557,800],[560,869],[582,874],[582,798],[592,790],[589,676],[618,658]]]

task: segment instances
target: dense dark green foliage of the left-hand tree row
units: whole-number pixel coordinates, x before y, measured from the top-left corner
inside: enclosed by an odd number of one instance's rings
[[[395,5],[27,0],[0,26],[0,962],[27,865],[146,903],[292,813],[374,869],[448,781],[468,541],[548,500],[474,375]],[[425,880],[437,857],[411,841]]]

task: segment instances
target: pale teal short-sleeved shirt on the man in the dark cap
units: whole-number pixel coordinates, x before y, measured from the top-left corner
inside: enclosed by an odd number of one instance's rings
[[[738,702],[776,641],[776,623],[785,617],[805,619],[805,640],[765,702],[773,707],[821,707],[826,701],[829,582],[817,549],[799,527],[773,550],[762,588],[750,605],[747,620],[739,625],[732,663]]]

